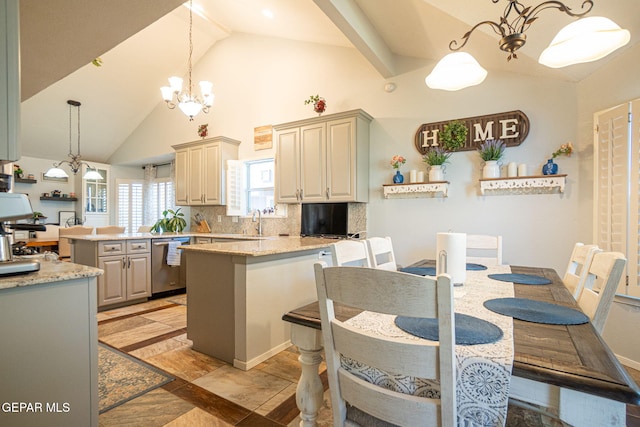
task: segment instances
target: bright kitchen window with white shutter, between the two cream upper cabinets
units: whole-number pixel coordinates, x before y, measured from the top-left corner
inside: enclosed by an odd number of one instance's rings
[[[229,160],[227,215],[245,216],[259,209],[265,215],[286,216],[286,205],[276,205],[273,159]]]

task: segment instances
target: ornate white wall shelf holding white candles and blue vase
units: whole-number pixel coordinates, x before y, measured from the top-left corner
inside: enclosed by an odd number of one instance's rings
[[[550,194],[563,193],[566,174],[523,176],[518,178],[482,178],[480,193],[491,194]]]

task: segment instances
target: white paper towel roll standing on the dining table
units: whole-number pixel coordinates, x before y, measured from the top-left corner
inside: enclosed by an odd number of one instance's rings
[[[467,278],[467,235],[465,233],[438,233],[436,235],[436,274],[451,276],[454,286],[464,284]]]

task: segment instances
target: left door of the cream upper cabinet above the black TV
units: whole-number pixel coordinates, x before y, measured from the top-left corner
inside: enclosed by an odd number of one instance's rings
[[[296,203],[300,190],[300,128],[276,131],[276,201]]]

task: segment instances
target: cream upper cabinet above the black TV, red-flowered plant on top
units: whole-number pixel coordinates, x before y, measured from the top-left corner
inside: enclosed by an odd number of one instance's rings
[[[353,110],[274,126],[276,201],[367,202],[371,120]]]

